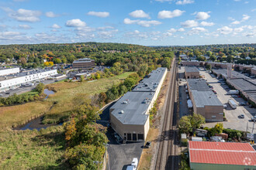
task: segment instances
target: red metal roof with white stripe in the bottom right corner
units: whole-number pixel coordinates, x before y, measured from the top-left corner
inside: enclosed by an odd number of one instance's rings
[[[256,165],[256,151],[247,143],[189,141],[189,160],[208,164]]]

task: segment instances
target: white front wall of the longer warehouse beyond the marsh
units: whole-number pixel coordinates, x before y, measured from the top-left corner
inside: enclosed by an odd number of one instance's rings
[[[40,73],[28,74],[26,76],[19,76],[9,80],[2,80],[0,81],[0,91],[9,90],[11,87],[19,87],[22,83],[42,80],[54,74],[57,74],[57,70],[49,70]]]

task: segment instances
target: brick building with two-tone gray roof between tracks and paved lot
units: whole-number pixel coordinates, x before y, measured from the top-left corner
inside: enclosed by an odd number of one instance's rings
[[[201,114],[207,122],[223,121],[223,104],[208,87],[206,80],[189,79],[188,90],[195,114]]]

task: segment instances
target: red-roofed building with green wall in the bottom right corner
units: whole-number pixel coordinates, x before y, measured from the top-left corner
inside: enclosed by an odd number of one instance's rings
[[[248,143],[189,141],[188,148],[191,169],[256,169],[256,151]]]

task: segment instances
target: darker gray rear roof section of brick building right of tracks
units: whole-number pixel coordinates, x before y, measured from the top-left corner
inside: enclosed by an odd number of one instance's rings
[[[206,83],[206,80],[201,79],[189,79],[188,80],[189,90],[199,91],[211,91]]]

